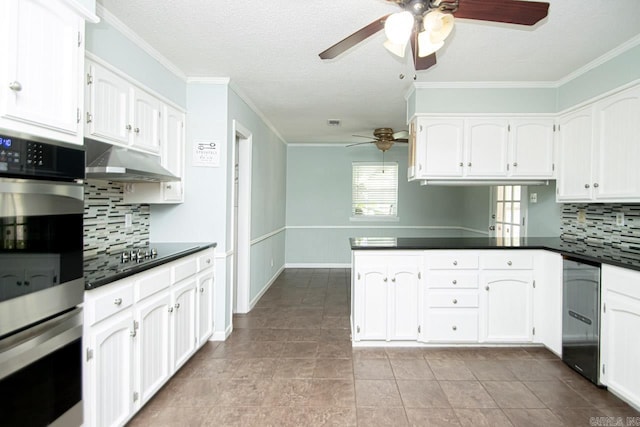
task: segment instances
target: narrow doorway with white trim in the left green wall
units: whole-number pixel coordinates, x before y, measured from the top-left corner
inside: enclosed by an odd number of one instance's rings
[[[232,291],[234,313],[248,313],[251,298],[251,153],[252,134],[233,121]]]

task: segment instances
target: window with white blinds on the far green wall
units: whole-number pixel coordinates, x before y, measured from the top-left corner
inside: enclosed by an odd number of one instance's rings
[[[351,216],[396,218],[398,215],[398,163],[354,162]]]

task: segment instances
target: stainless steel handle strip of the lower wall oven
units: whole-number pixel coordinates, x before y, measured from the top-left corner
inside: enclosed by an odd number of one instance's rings
[[[0,379],[82,338],[82,308],[0,341]]]

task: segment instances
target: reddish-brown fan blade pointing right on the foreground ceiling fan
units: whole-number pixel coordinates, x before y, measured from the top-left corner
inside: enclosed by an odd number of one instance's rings
[[[549,12],[549,3],[519,0],[459,0],[456,18],[534,25]]]

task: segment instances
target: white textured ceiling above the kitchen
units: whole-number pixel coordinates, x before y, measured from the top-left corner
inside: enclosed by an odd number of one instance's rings
[[[384,0],[98,0],[188,77],[229,77],[287,142],[349,142],[406,129],[418,82],[557,82],[640,34],[640,1],[550,0],[534,27],[457,20],[438,64],[415,73],[380,32],[318,53],[376,18]],[[603,6],[612,6],[604,9]],[[399,75],[406,77],[400,79]],[[340,119],[338,128],[327,119]]]

